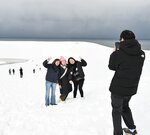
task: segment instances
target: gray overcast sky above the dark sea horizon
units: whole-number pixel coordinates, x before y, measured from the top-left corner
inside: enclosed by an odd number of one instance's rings
[[[0,37],[150,39],[149,0],[0,0]]]

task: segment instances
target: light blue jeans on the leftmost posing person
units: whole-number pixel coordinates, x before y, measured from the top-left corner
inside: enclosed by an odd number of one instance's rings
[[[51,93],[50,93],[51,90]],[[46,94],[45,94],[45,105],[55,105],[55,91],[56,91],[56,83],[46,81]]]

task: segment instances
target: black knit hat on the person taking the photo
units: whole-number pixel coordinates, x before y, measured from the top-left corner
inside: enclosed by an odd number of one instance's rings
[[[130,30],[124,30],[121,32],[120,34],[120,40],[121,39],[124,39],[124,40],[129,40],[129,39],[135,39],[135,35],[132,31]]]

